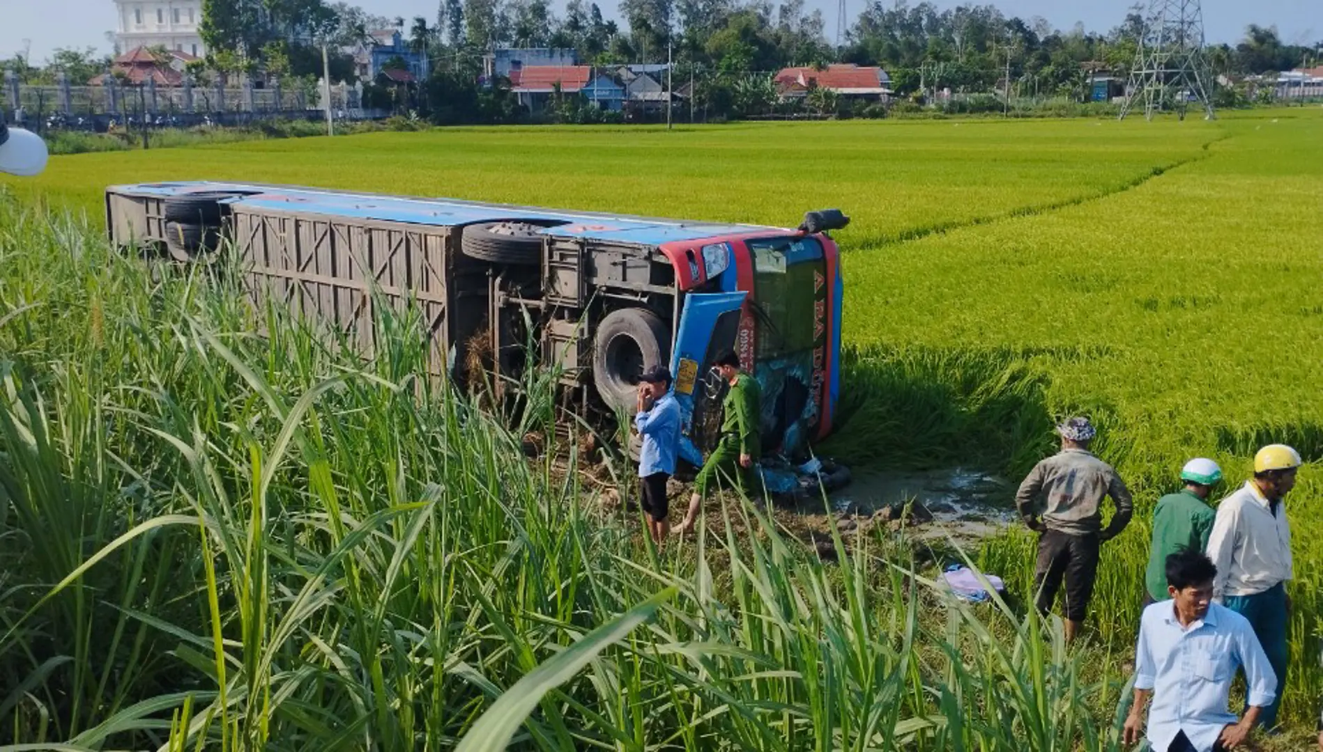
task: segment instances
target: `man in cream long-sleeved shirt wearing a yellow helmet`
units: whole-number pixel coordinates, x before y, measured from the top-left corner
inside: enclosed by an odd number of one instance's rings
[[[1301,455],[1286,444],[1269,444],[1254,455],[1254,477],[1217,506],[1208,537],[1208,558],[1217,567],[1213,597],[1249,620],[1277,674],[1277,699],[1259,723],[1277,726],[1286,687],[1286,613],[1291,607],[1291,529],[1285,497],[1295,488]]]

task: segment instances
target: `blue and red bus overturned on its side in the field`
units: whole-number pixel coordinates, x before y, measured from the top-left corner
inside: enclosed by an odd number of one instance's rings
[[[274,296],[365,357],[374,307],[415,304],[435,373],[462,382],[479,357],[517,377],[532,358],[589,416],[632,411],[643,369],[667,363],[693,465],[716,441],[710,366],[724,349],[762,386],[765,455],[802,460],[831,432],[843,284],[827,231],[847,222],[814,211],[789,230],[232,182],[106,192],[114,242],[180,260],[232,248],[254,303]]]

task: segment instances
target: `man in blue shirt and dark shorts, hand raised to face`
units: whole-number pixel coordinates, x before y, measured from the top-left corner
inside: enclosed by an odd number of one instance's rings
[[[671,371],[665,366],[648,369],[639,377],[639,404],[634,427],[643,436],[639,452],[639,506],[647,515],[648,533],[659,547],[668,533],[665,482],[675,474],[680,453],[680,403],[671,395]]]

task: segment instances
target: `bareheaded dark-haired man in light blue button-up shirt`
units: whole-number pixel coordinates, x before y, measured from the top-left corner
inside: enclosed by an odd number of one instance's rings
[[[1217,567],[1199,551],[1167,556],[1172,600],[1144,609],[1135,649],[1135,703],[1125,741],[1139,741],[1148,708],[1154,752],[1236,749],[1277,693],[1277,675],[1249,620],[1213,603]],[[1228,710],[1236,669],[1245,669],[1249,707],[1237,722]]]

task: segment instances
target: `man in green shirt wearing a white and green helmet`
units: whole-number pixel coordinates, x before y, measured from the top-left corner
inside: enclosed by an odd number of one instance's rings
[[[1213,486],[1222,480],[1217,463],[1199,457],[1180,470],[1185,488],[1158,500],[1154,509],[1154,538],[1144,575],[1144,605],[1167,600],[1167,556],[1181,550],[1203,551],[1213,531],[1216,514],[1208,506]]]

